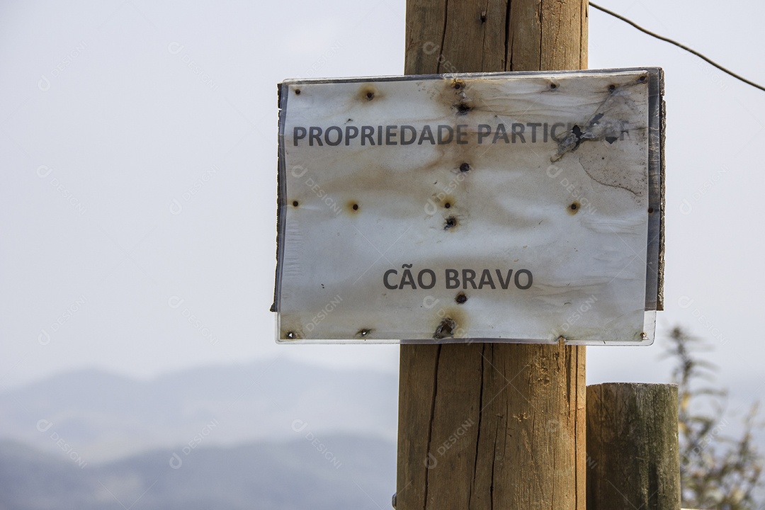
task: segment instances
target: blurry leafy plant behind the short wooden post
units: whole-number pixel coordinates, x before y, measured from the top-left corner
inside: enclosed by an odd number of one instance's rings
[[[677,362],[672,380],[679,385],[680,478],[683,508],[756,510],[763,456],[754,444],[757,403],[743,419],[741,437],[726,434],[727,391],[714,381],[715,365],[698,358],[708,349],[702,339],[679,327],[670,335],[668,355]]]

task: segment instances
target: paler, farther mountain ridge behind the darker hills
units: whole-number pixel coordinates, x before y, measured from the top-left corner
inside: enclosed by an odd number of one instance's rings
[[[0,393],[0,439],[93,464],[203,436],[205,447],[306,433],[396,441],[395,374],[285,359],[213,366],[148,382],[106,372],[57,375]],[[63,443],[60,443],[63,441]]]

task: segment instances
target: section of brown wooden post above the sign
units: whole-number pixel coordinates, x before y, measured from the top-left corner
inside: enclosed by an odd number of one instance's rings
[[[587,68],[582,0],[409,0],[405,74]]]

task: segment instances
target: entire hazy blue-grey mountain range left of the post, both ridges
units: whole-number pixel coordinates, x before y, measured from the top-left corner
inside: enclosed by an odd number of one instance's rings
[[[390,508],[395,374],[285,359],[0,393],[0,510]]]

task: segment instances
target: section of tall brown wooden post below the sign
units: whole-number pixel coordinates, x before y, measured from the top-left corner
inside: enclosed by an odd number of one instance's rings
[[[584,348],[401,346],[397,508],[584,508]]]

